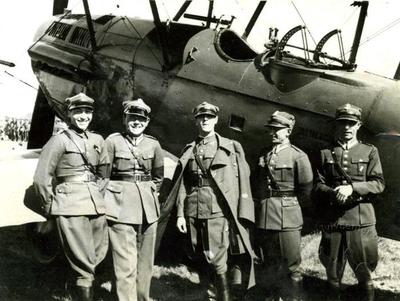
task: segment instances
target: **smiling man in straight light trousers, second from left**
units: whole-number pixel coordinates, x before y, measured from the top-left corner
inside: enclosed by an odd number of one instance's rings
[[[112,164],[105,196],[107,219],[118,300],[147,301],[164,157],[157,139],[143,133],[150,122],[150,107],[140,98],[123,106],[126,131],[106,139]]]

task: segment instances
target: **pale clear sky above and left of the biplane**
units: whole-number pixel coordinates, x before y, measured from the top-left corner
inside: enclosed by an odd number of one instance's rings
[[[157,0],[161,19],[172,19],[182,3],[183,0]],[[339,28],[347,51],[352,45],[359,15],[359,9],[350,6],[352,3],[352,0],[267,0],[248,41],[262,51],[270,27],[279,28],[281,38],[291,28],[305,23],[311,33],[308,35],[311,49],[315,47],[313,40],[318,42],[326,33]],[[256,0],[216,0],[214,15],[223,14],[227,18],[234,15],[232,29],[242,34],[257,4]],[[51,17],[52,5],[52,0],[3,0],[0,4],[0,59],[16,64],[13,68],[0,65],[0,118],[23,118],[33,110],[37,81],[27,49],[39,25]],[[152,18],[147,0],[89,0],[89,5],[92,15],[111,13]],[[207,0],[194,0],[188,12],[206,15],[207,6]],[[82,13],[82,1],[69,0],[68,8],[73,13]],[[357,55],[358,70],[393,77],[400,61],[399,12],[398,0],[370,0]],[[327,46],[333,53],[336,51],[336,42]]]

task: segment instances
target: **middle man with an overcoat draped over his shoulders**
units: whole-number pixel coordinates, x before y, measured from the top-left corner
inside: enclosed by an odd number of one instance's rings
[[[217,300],[227,301],[231,300],[227,279],[229,233],[239,236],[252,262],[246,224],[254,222],[254,205],[242,146],[214,130],[218,111],[207,102],[194,108],[199,135],[183,149],[166,203],[176,201],[177,228],[188,234],[190,256],[203,261],[199,267],[210,268]],[[249,280],[252,285],[254,273]]]

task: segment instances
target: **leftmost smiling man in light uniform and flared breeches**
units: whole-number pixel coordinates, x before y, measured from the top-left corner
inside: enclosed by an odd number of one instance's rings
[[[73,300],[93,300],[95,267],[108,245],[102,188],[109,159],[103,138],[88,131],[93,103],[83,93],[66,99],[69,128],[43,147],[34,175],[43,210],[55,218],[72,268]]]

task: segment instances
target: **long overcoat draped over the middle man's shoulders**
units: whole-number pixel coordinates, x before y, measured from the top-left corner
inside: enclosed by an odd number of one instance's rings
[[[249,223],[254,223],[254,203],[250,189],[250,169],[239,142],[216,134],[217,151],[210,164],[210,176],[221,201],[223,214],[230,220],[230,229],[239,236],[245,252],[251,258],[249,287],[255,284],[253,258],[250,236],[246,230]],[[185,192],[182,189],[183,174],[193,153],[195,141],[186,145],[178,161],[172,179],[173,187],[162,208],[162,216],[177,206],[177,216],[184,216]]]

